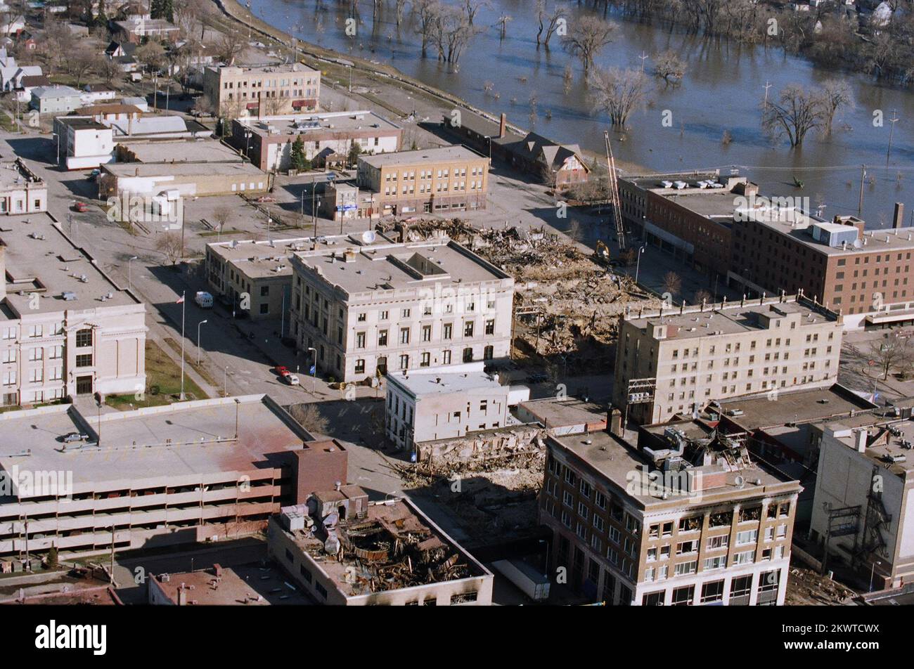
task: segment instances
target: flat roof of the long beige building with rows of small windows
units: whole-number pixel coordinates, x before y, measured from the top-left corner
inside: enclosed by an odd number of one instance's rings
[[[632,312],[633,313],[633,312]],[[701,306],[687,306],[680,313],[675,307],[664,310],[663,313],[643,313],[632,317],[632,313],[625,318],[626,322],[644,329],[648,325],[667,325],[666,339],[688,340],[714,335],[739,335],[749,332],[766,332],[760,316],[786,316],[799,313],[802,324],[821,324],[834,321],[836,313],[828,312],[821,305],[815,305],[811,300],[787,296],[766,298],[760,300],[747,300],[740,305],[739,302],[707,304]]]

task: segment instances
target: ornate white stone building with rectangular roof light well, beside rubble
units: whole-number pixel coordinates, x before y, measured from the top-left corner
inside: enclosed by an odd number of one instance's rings
[[[504,271],[447,238],[331,241],[292,255],[289,335],[318,369],[356,381],[510,355]]]

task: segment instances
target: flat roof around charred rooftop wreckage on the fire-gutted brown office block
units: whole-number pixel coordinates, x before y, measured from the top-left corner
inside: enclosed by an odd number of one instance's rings
[[[617,489],[622,491],[631,489],[632,475],[639,476],[638,480],[641,480],[640,475],[643,471],[655,471],[653,463],[644,458],[640,452],[622,445],[606,430],[564,437],[550,436],[548,440],[550,443],[558,444],[564,451],[568,451],[580,460],[590,464],[594,470],[609,479]],[[757,464],[726,472],[725,478],[726,481],[722,486],[696,492],[703,503],[710,504],[718,499],[737,499],[741,496],[755,497],[766,494],[767,488],[792,490],[797,487],[796,482],[784,481],[763,470]],[[756,481],[759,483],[755,483]],[[658,485],[661,483],[663,482],[657,482]],[[742,484],[740,485],[740,483]],[[771,490],[768,492],[777,494],[782,491]],[[633,500],[643,504],[644,508],[690,504],[692,499],[682,494],[671,494],[666,500],[662,496],[651,494],[635,494],[631,495],[631,497]]]

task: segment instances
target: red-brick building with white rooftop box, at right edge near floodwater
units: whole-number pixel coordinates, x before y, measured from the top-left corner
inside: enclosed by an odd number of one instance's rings
[[[845,327],[914,321],[914,228],[902,227],[895,206],[890,229],[864,221],[832,222],[795,209],[750,212],[733,228],[730,282],[751,281],[771,292],[816,297],[844,314]]]

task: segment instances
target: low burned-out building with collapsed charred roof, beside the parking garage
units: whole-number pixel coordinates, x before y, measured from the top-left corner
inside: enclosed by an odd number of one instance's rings
[[[270,554],[319,603],[492,603],[493,575],[409,500],[369,503],[356,485],[271,518]]]

